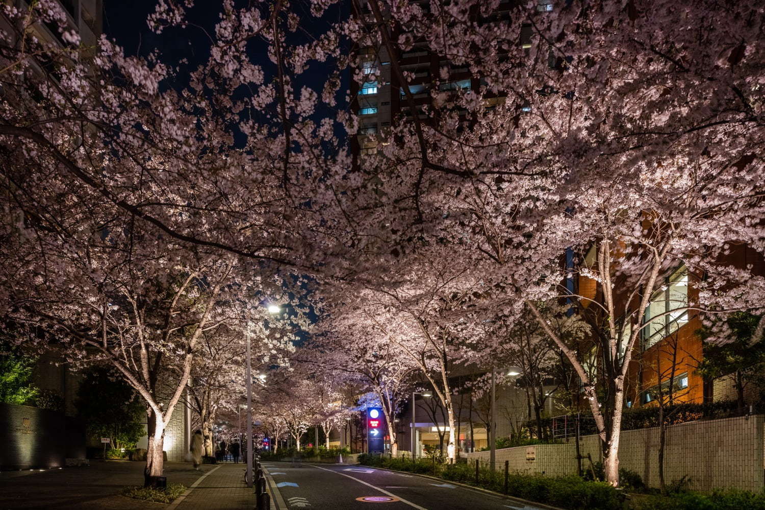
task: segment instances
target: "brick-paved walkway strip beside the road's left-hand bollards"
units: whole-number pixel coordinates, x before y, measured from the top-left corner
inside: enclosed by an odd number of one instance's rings
[[[255,508],[255,492],[244,484],[246,465],[219,464],[210,474],[192,486],[181,502],[168,506],[168,510],[252,510]]]

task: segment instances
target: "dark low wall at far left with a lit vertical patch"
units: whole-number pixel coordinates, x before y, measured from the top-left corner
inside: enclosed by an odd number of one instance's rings
[[[50,468],[85,458],[85,427],[37,407],[0,404],[0,469]]]

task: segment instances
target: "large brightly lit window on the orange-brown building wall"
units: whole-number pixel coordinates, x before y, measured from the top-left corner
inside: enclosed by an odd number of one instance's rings
[[[680,266],[651,296],[643,319],[643,349],[672,335],[688,322],[688,268]]]

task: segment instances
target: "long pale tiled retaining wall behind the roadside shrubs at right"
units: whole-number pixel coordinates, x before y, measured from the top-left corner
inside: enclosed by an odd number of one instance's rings
[[[760,492],[765,487],[765,417],[727,418],[679,423],[667,427],[665,479],[691,478],[691,487],[709,491],[737,487]],[[619,450],[620,466],[659,486],[659,427],[625,430]],[[581,453],[601,457],[597,436],[581,438]],[[468,459],[488,462],[489,452],[467,453]],[[574,441],[558,445],[519,446],[496,450],[496,461],[516,472],[564,476],[576,473]],[[587,465],[585,460],[583,467]]]

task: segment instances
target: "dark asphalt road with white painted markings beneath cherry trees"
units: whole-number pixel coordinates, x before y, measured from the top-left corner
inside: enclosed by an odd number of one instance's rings
[[[296,466],[288,462],[267,462],[263,467],[284,500],[286,508],[278,505],[279,510],[373,510],[382,502],[386,503],[384,510],[542,510],[444,480],[366,466],[306,463]],[[364,498],[371,499],[365,501]]]

